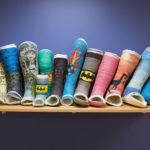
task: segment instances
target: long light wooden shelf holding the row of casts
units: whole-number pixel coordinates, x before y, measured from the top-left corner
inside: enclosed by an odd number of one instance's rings
[[[150,112],[150,106],[147,108],[137,108],[129,105],[121,107],[79,107],[79,106],[57,106],[57,107],[32,107],[21,105],[0,105],[0,112],[63,112],[63,113],[147,113]]]

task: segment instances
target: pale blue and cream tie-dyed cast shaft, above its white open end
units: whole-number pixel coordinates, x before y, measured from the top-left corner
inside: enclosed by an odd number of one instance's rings
[[[131,81],[124,91],[124,95],[132,92],[140,93],[144,83],[150,76],[150,47],[142,53],[141,62],[137,67]]]

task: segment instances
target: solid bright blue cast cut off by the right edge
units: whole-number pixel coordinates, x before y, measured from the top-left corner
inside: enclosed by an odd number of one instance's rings
[[[150,104],[150,78],[148,79],[142,90],[142,96],[145,98],[148,104]]]

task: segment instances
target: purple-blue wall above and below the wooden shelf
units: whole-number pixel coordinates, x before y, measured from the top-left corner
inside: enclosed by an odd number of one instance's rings
[[[141,53],[150,46],[148,0],[0,0],[0,45],[31,40],[70,54],[89,47]],[[149,150],[150,114],[0,114],[0,150]]]

